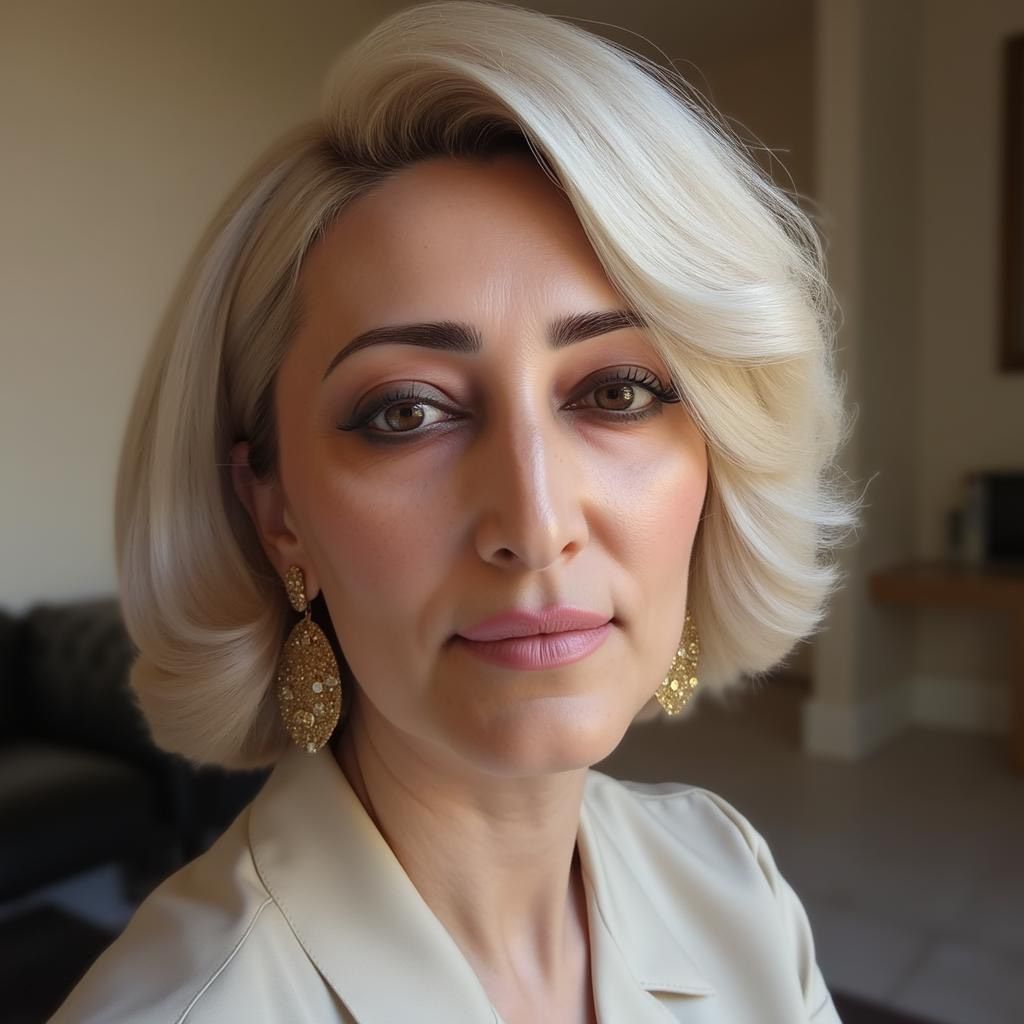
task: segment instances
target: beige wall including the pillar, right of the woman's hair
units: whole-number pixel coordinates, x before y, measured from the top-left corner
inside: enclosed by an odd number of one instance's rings
[[[868,482],[847,588],[815,648],[807,745],[862,755],[908,722],[1009,727],[1009,635],[981,615],[879,607],[867,575],[941,558],[955,483],[1024,462],[1024,375],[999,375],[996,259],[1007,0],[821,0],[818,186]]]

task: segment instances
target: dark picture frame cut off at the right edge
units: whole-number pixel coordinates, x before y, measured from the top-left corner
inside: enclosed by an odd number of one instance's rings
[[[1004,50],[1002,338],[999,369],[1024,372],[1024,33]]]

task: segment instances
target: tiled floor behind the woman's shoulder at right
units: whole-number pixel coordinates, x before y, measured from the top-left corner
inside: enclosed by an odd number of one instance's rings
[[[706,786],[762,833],[829,987],[936,1024],[1024,1022],[1024,777],[1007,739],[913,728],[857,763],[799,749],[779,680],[636,726],[597,767]]]

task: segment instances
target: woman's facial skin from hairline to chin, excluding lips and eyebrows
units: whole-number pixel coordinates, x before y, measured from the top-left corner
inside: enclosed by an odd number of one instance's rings
[[[707,456],[685,407],[639,383],[671,384],[641,329],[549,342],[560,317],[624,306],[568,201],[521,156],[417,164],[346,209],[301,294],[276,561],[323,591],[367,728],[492,774],[601,760],[679,642]],[[409,328],[339,359],[372,328],[440,322],[478,350]],[[551,605],[610,620],[603,642],[525,668],[456,637]]]

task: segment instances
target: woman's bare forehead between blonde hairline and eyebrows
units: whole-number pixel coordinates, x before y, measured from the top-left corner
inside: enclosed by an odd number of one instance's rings
[[[345,209],[302,276],[314,310],[356,321],[614,298],[568,199],[522,155],[396,172]]]

